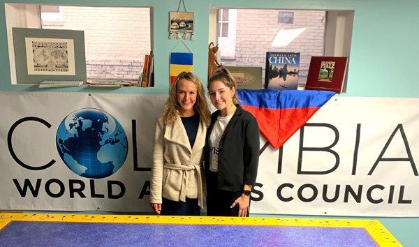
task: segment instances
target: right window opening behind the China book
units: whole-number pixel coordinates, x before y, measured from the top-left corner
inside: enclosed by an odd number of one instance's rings
[[[230,23],[235,24],[231,34]],[[352,26],[353,10],[212,8],[209,41],[218,40],[223,66],[262,67],[262,84],[266,52],[300,52],[298,84],[304,87],[312,56],[349,57]]]

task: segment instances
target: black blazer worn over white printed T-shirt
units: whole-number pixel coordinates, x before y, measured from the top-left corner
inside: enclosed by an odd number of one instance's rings
[[[242,191],[244,184],[254,186],[259,162],[259,126],[250,112],[236,105],[219,144],[218,190]],[[205,140],[205,172],[209,172],[210,135],[220,111],[211,115]]]

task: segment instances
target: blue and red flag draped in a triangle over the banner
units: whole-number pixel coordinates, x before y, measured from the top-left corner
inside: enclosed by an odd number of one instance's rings
[[[240,105],[256,117],[260,133],[275,149],[334,95],[332,91],[237,89]]]

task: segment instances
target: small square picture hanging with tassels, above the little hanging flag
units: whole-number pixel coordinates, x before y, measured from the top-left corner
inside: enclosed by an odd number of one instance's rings
[[[185,12],[179,12],[180,3],[183,3]],[[184,33],[182,38],[188,40],[189,37],[186,33],[191,33],[191,40],[193,40],[193,29],[195,28],[195,18],[193,17],[193,12],[186,12],[186,7],[184,0],[179,1],[179,6],[177,11],[169,12],[169,39],[180,38],[179,33]],[[173,35],[175,33],[175,35]]]

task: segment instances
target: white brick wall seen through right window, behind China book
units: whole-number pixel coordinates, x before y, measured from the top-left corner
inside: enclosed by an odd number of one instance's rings
[[[287,10],[291,12],[293,10]],[[265,78],[266,52],[300,52],[300,77],[308,73],[311,56],[323,56],[325,11],[293,11],[294,23],[278,23],[279,10],[237,10],[235,59],[223,59],[224,66],[263,68]],[[271,47],[272,40],[283,28],[304,30],[286,47]]]

